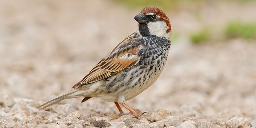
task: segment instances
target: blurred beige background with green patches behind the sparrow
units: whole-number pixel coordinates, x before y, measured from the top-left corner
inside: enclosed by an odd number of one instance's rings
[[[0,106],[70,90],[138,30],[133,17],[145,6],[169,17],[171,50],[155,84],[127,104],[211,121],[256,119],[255,0],[0,0]],[[112,102],[82,99],[61,103],[118,112]]]

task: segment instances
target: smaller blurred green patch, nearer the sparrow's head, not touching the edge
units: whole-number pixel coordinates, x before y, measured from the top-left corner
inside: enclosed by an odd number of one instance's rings
[[[194,34],[190,35],[190,40],[194,43],[194,44],[200,44],[203,43],[207,40],[209,40],[210,38],[210,32],[208,29],[202,29],[199,32],[196,32]]]

